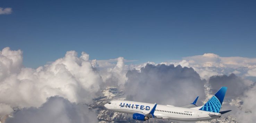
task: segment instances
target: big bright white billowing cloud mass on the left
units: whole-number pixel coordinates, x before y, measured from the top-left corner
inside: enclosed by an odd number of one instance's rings
[[[0,51],[0,105],[38,107],[55,95],[72,103],[91,103],[102,79],[88,57],[84,52],[78,57],[75,51],[68,51],[65,57],[32,69],[22,66],[22,51],[3,49]],[[0,114],[10,111],[4,109]]]

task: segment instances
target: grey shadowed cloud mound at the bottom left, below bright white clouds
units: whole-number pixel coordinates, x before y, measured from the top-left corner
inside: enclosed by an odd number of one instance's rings
[[[40,107],[14,112],[6,123],[96,123],[97,115],[86,105],[75,104],[63,97],[50,97]]]

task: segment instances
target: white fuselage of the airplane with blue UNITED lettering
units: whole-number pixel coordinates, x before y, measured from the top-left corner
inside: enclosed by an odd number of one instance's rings
[[[111,104],[105,104],[104,106],[111,111],[121,112],[121,113],[140,113],[148,114],[154,107],[154,104],[141,103],[125,100],[114,100],[110,102]],[[198,110],[196,108],[183,108],[175,107],[170,105],[158,105],[155,108],[154,118],[178,120],[178,121],[203,121],[211,120],[214,118],[219,118],[220,113],[212,113],[207,111]]]

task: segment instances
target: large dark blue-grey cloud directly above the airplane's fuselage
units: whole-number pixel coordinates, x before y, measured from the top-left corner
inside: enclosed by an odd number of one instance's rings
[[[128,71],[126,76],[128,100],[181,106],[194,101],[197,96],[205,98],[205,80],[201,80],[193,68],[147,64],[140,71]]]

